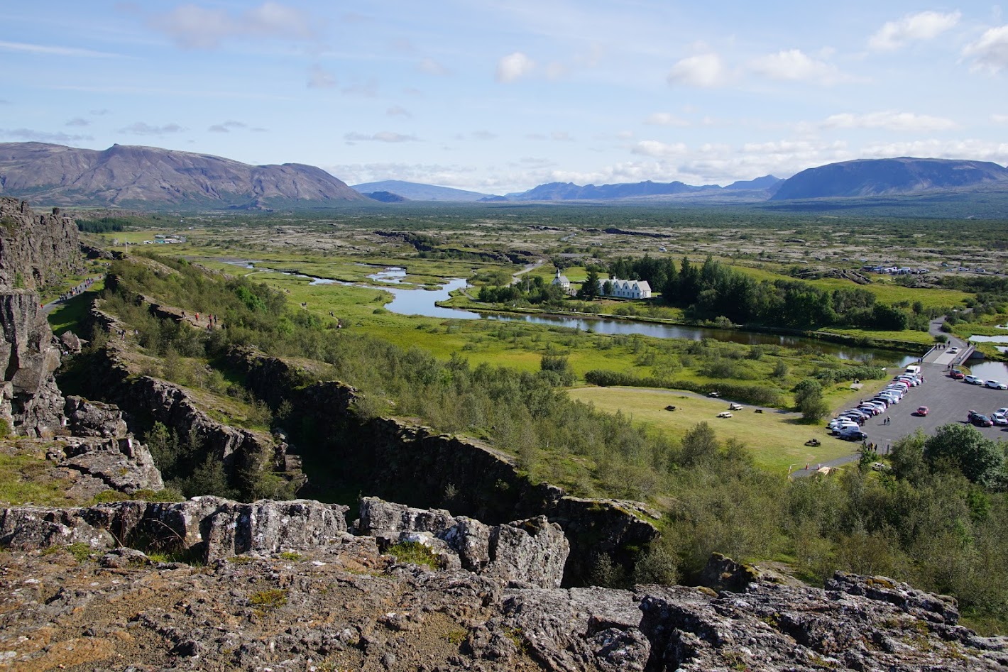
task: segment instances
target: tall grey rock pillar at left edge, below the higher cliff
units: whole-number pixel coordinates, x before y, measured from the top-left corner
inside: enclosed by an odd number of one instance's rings
[[[62,426],[62,395],[52,377],[59,351],[38,295],[0,290],[0,421],[28,436],[51,436]]]

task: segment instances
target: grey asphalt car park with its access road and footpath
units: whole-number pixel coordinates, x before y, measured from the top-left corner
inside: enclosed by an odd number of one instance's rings
[[[940,320],[937,320],[940,323]],[[935,325],[932,324],[932,328]],[[949,334],[947,334],[949,335]],[[950,354],[952,348],[959,348],[957,354]],[[967,344],[962,340],[950,335],[949,345],[946,349],[935,349],[927,353],[922,359],[921,373],[924,383],[917,387],[911,387],[903,397],[903,400],[888,408],[890,423],[883,424],[884,414],[869,418],[862,427],[868,434],[868,440],[881,446],[880,452],[885,452],[900,438],[912,434],[916,429],[921,429],[925,434],[934,432],[940,425],[950,422],[966,423],[967,413],[972,409],[981,413],[990,414],[992,411],[1002,407],[1008,407],[1008,391],[993,390],[991,388],[970,385],[961,380],[956,380],[949,376],[949,365],[958,366],[960,359],[965,353]],[[868,381],[865,384],[865,399],[873,396],[888,381]],[[927,406],[926,417],[917,417],[912,413],[918,406]],[[1006,427],[977,427],[985,436],[990,438],[1008,439],[1008,428]],[[838,441],[841,439],[829,436],[827,430],[823,429],[824,441]],[[823,462],[823,466],[839,466],[855,461],[859,454],[854,453],[846,457]],[[808,471],[799,469],[794,472],[794,476],[808,476],[814,473],[814,464]]]

